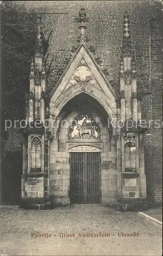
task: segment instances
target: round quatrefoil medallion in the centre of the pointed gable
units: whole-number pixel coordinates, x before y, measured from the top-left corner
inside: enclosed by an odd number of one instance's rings
[[[88,66],[80,65],[74,71],[74,77],[79,81],[88,81],[91,77],[91,71]]]

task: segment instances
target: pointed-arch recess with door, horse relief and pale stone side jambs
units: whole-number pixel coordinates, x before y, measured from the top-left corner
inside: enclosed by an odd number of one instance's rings
[[[95,98],[81,93],[65,104],[58,118],[51,144],[51,195],[56,202],[65,198],[72,204],[107,204],[109,176],[114,182],[111,196],[117,195],[116,141],[110,136],[108,113]]]

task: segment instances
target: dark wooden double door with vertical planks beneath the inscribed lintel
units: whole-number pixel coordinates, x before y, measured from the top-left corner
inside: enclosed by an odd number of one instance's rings
[[[99,152],[69,153],[72,204],[99,204],[101,201],[101,157]]]

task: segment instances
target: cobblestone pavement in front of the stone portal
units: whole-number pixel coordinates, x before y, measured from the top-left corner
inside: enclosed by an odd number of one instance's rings
[[[0,210],[1,255],[161,255],[162,226],[138,212],[98,205]],[[37,232],[51,237],[35,238]],[[136,237],[119,237],[121,232]]]

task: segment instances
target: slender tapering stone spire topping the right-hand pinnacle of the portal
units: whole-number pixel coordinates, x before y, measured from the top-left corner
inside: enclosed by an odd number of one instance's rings
[[[131,57],[131,44],[130,34],[128,28],[128,15],[125,12],[125,24],[124,24],[124,45],[123,45],[123,57]]]

